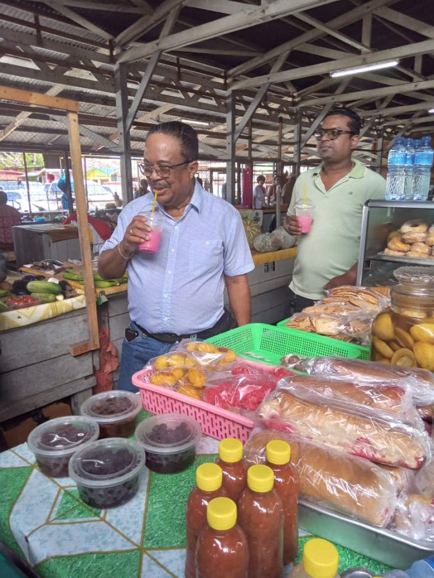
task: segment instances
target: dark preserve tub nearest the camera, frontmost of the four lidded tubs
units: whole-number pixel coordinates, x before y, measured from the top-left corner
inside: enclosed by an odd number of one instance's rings
[[[69,462],[69,476],[83,502],[97,508],[120,506],[136,494],[145,452],[130,439],[106,438],[87,444]]]

